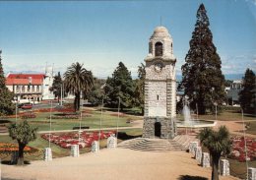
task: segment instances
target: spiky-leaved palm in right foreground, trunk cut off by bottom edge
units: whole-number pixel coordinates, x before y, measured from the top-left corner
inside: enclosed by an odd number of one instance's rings
[[[225,126],[221,126],[218,131],[204,128],[200,131],[198,138],[201,144],[210,151],[212,156],[212,180],[219,180],[219,160],[222,155],[228,154],[231,149],[229,132]]]

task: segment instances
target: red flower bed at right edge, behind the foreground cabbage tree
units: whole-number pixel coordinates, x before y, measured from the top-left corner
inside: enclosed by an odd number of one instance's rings
[[[246,160],[245,155],[245,141],[243,137],[236,136],[232,139],[232,150],[230,153],[230,158],[244,162]],[[246,138],[247,147],[247,160],[256,160],[256,139]]]

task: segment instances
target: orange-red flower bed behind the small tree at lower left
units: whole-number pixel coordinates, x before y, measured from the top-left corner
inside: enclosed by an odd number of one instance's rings
[[[13,151],[18,151],[19,147],[17,144],[9,144],[9,143],[0,143],[0,153],[11,153]],[[37,151],[36,149],[26,146],[24,152],[32,153]]]

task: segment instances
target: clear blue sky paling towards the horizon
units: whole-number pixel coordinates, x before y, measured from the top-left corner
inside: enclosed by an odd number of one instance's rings
[[[107,77],[122,61],[136,76],[161,17],[181,74],[201,3],[224,74],[256,69],[256,0],[168,0],[0,1],[4,70],[44,72],[47,63],[64,72],[78,61],[96,77]]]

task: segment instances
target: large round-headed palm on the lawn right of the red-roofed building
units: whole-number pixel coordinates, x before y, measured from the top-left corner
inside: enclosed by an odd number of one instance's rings
[[[64,74],[64,86],[66,92],[75,95],[74,109],[75,111],[80,108],[80,95],[85,94],[94,86],[94,77],[91,71],[87,71],[84,64],[78,62],[73,63],[68,67]]]

